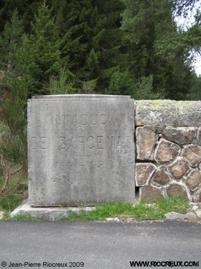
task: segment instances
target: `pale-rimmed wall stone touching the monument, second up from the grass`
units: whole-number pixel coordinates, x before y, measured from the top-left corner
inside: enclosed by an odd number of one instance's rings
[[[151,175],[156,170],[156,166],[152,163],[136,163],[135,164],[135,185],[148,185]]]

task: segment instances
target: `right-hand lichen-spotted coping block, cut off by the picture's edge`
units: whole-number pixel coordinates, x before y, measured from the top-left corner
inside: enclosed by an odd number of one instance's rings
[[[201,126],[201,101],[178,101],[178,126]]]

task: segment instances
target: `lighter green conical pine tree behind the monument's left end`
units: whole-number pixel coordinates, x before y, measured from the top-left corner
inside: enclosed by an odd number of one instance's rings
[[[57,75],[61,67],[58,30],[46,1],[39,6],[31,25],[32,33],[25,38],[18,55],[18,68],[31,82],[32,94],[44,94],[50,75]]]

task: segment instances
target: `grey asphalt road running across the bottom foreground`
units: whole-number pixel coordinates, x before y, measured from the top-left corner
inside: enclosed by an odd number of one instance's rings
[[[0,221],[0,268],[2,262],[6,269],[39,268],[24,262],[82,268],[71,262],[84,262],[84,269],[128,269],[130,261],[199,261],[185,268],[201,268],[201,223]]]

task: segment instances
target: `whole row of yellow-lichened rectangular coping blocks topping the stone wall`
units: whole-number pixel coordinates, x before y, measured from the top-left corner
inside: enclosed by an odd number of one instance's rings
[[[136,100],[135,126],[201,126],[201,101]]]

